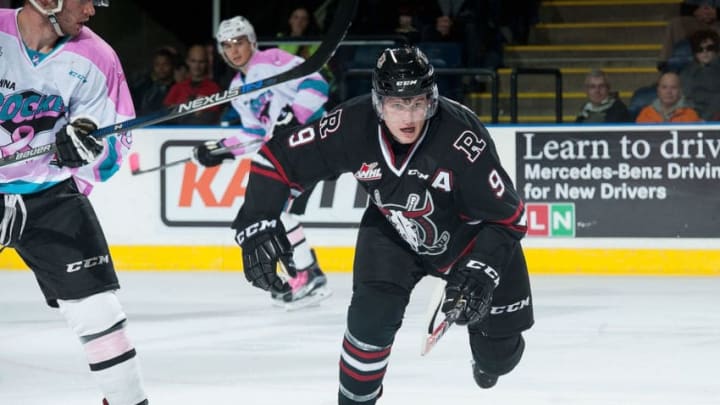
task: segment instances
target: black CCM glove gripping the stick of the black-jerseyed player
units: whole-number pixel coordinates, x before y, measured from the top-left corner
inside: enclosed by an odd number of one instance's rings
[[[470,257],[462,259],[447,280],[442,311],[462,308],[455,321],[458,325],[483,320],[490,312],[493,290],[499,282],[500,277],[492,267]]]

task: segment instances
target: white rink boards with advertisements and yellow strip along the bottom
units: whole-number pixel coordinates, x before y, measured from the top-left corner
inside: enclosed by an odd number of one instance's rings
[[[183,159],[232,128],[134,132],[141,167]],[[536,274],[720,275],[720,126],[494,126],[498,153],[526,202],[523,241]],[[229,224],[247,159],[131,176],[127,166],[91,200],[120,270],[240,271]],[[321,183],[304,217],[328,271],[352,267],[367,197],[350,174]],[[24,269],[12,249],[0,269]]]

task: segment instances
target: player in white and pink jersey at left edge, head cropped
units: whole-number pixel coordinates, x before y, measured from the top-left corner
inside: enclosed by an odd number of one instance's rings
[[[0,153],[57,148],[0,168],[0,250],[15,249],[77,334],[103,403],[146,405],[117,275],[87,198],[117,172],[132,141],[129,133],[90,134],[135,116],[115,51],[85,26],[108,5],[25,0],[0,9]]]

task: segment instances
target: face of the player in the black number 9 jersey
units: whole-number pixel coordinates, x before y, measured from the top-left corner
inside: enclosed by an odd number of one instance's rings
[[[402,144],[417,141],[430,107],[427,96],[386,97],[382,106],[383,120],[395,140]]]

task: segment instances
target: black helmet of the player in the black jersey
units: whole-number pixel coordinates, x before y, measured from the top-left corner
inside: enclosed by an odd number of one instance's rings
[[[383,97],[427,95],[430,108],[426,119],[435,114],[438,90],[435,70],[427,56],[415,46],[387,48],[378,57],[372,77],[373,105],[382,119]]]

